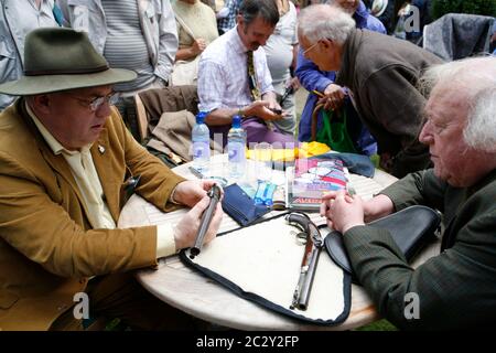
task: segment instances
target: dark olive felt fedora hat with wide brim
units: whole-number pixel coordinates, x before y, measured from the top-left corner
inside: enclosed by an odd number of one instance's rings
[[[0,93],[30,96],[129,82],[130,69],[110,68],[85,32],[42,28],[28,33],[24,76],[0,85]]]

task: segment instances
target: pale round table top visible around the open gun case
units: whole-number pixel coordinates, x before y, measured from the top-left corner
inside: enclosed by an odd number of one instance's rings
[[[222,158],[222,157],[218,157]],[[174,171],[185,178],[194,178],[187,164]],[[367,199],[382,186],[392,183],[396,178],[376,171],[374,179],[352,174],[353,185],[360,196]],[[161,213],[157,207],[138,195],[133,195],[122,210],[119,227],[177,222],[186,210],[170,214]],[[312,218],[317,222],[317,214]],[[322,223],[322,220],[319,220]],[[225,215],[220,231],[236,228],[238,225]],[[413,263],[413,267],[439,254],[440,242],[425,248]],[[291,319],[283,314],[245,300],[228,289],[186,267],[179,256],[159,260],[159,268],[137,271],[137,278],[151,293],[194,317],[219,325],[240,330],[349,330],[379,319],[375,307],[359,286],[352,285],[352,309],[346,321],[339,325],[323,327]]]

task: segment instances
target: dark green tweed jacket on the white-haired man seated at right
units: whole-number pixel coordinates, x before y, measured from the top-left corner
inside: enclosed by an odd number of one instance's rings
[[[445,231],[441,254],[416,270],[387,231],[356,226],[345,233],[353,268],[380,314],[402,329],[496,328],[496,170],[466,189],[427,170],[381,193],[397,210],[425,204],[442,211]],[[418,295],[418,319],[405,315],[407,293]]]

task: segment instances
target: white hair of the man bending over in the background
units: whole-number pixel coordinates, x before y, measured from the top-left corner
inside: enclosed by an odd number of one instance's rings
[[[355,26],[349,14],[328,4],[312,4],[298,17],[298,31],[312,43],[330,39],[343,45]]]

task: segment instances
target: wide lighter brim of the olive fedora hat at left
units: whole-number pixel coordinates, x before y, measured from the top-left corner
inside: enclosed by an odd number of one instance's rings
[[[31,96],[67,89],[105,86],[133,81],[137,74],[125,68],[109,68],[95,74],[22,76],[0,85],[0,93]]]

